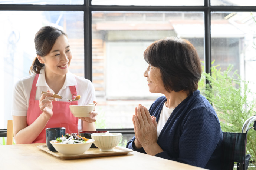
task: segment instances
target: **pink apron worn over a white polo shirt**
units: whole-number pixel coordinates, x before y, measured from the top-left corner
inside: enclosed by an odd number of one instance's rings
[[[36,83],[39,74],[36,74],[29,98],[29,107],[27,110],[27,126],[32,124],[37,117],[42,113],[39,109],[39,100],[35,100],[36,97]],[[71,94],[76,94],[76,87],[69,86]],[[65,127],[66,133],[78,133],[78,118],[74,117],[70,112],[69,105],[78,105],[77,101],[63,102],[63,101],[53,101],[52,111],[53,115],[46,124],[45,128],[39,134],[39,136],[32,143],[45,143],[45,129],[48,127]]]

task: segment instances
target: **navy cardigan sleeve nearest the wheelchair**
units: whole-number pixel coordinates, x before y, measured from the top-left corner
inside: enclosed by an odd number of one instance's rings
[[[205,167],[222,138],[219,120],[207,108],[191,110],[181,124],[179,157],[172,158],[167,151],[155,156]],[[167,141],[164,141],[166,144]]]

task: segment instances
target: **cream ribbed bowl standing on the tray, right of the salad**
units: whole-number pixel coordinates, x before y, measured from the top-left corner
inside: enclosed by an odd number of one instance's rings
[[[92,133],[91,137],[100,151],[113,151],[113,148],[120,142],[122,133]]]

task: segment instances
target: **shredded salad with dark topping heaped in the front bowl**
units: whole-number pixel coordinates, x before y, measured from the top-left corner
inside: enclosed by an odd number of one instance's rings
[[[63,143],[63,144],[73,144],[73,143],[85,143],[89,139],[77,135],[77,133],[66,133],[62,137],[57,137],[56,140],[53,141],[53,143]]]

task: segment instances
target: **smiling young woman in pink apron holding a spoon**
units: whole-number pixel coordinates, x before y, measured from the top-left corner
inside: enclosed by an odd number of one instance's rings
[[[72,60],[67,35],[55,27],[42,27],[35,35],[37,57],[33,61],[31,76],[20,79],[14,86],[12,116],[16,144],[45,143],[47,127],[65,127],[68,133],[96,130],[96,113],[76,118],[69,105],[96,103],[91,81],[69,72]],[[47,93],[41,94],[41,91]],[[79,101],[55,99],[53,94],[67,99],[80,95]]]

